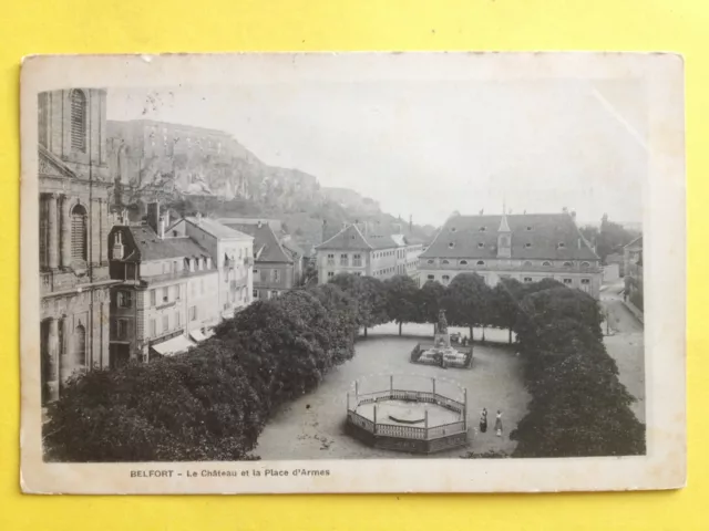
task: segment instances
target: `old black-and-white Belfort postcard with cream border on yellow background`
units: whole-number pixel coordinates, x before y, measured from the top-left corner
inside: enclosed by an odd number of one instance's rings
[[[685,485],[681,58],[21,77],[24,492]]]

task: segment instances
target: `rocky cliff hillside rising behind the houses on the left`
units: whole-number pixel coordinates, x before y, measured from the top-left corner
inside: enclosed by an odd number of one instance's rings
[[[224,133],[212,133],[227,138],[218,153],[199,147],[167,154],[151,149],[142,134],[135,135],[134,123],[110,125],[113,202],[127,207],[133,219],[142,217],[145,204],[153,200],[181,215],[277,218],[306,251],[353,221],[368,222],[372,233],[402,230],[422,240],[433,235],[433,227],[410,228],[354,190],[321,187],[312,175],[269,166]]]

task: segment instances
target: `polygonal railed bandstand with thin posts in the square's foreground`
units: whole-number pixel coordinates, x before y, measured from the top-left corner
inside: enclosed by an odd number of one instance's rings
[[[361,378],[347,394],[347,431],[374,448],[433,454],[467,444],[467,391],[410,375]]]

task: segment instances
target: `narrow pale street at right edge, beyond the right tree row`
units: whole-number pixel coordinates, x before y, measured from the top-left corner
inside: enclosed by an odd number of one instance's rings
[[[644,326],[623,303],[623,280],[609,284],[600,293],[600,303],[607,312],[610,335],[604,337],[608,354],[618,364],[620,382],[637,398],[631,409],[645,421],[645,337]],[[604,334],[606,325],[604,324]]]

